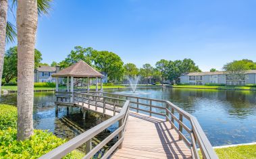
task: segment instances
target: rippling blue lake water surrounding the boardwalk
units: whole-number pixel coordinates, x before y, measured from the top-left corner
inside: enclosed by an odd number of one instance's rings
[[[130,92],[129,88],[105,91],[121,94]],[[136,96],[170,100],[197,117],[213,146],[256,141],[256,92],[179,88],[138,88],[137,91],[139,93]],[[55,115],[54,100],[53,92],[35,92],[35,129],[49,129],[59,137],[71,139],[106,119],[87,113],[86,120],[83,121],[79,108],[74,108],[67,115],[64,106]],[[2,95],[1,103],[16,105],[16,94]],[[116,125],[99,134],[99,139],[103,139],[114,129]]]

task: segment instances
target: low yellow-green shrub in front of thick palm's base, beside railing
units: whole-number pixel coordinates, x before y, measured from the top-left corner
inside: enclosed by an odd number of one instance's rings
[[[0,130],[0,158],[39,158],[66,142],[43,130],[34,130],[34,135],[24,141],[17,141],[16,136],[16,129]],[[78,153],[72,152],[65,158],[74,158]]]

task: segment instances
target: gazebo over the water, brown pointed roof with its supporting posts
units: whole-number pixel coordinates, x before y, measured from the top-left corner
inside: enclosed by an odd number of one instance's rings
[[[70,67],[67,67],[66,69],[62,69],[61,71],[54,73],[51,75],[52,77],[56,77],[56,91],[59,90],[59,82],[58,77],[66,77],[67,78],[67,91],[68,92],[74,92],[74,77],[76,78],[87,78],[87,91],[90,90],[90,79],[96,78],[96,91],[98,91],[98,78],[101,79],[101,90],[103,89],[103,81],[102,77],[103,75],[99,73],[99,71],[96,71],[85,63],[84,61],[79,61],[78,63],[75,63],[74,65],[71,65]]]

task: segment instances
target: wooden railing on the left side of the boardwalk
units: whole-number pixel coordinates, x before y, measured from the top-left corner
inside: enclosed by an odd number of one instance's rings
[[[88,95],[88,94],[82,94],[82,93],[74,93],[74,96],[82,96],[82,98],[87,99],[88,103],[92,104],[90,102],[91,98],[101,98],[101,100],[106,100],[108,97],[104,96],[95,96],[95,95]],[[82,100],[78,100],[76,102],[82,102]],[[97,102],[95,102],[97,105]],[[72,152],[82,144],[86,144],[86,156],[84,158],[91,158],[94,156],[103,146],[105,146],[113,137],[118,135],[118,141],[116,144],[114,144],[105,154],[102,158],[107,158],[109,157],[116,148],[122,148],[122,141],[124,140],[123,133],[126,129],[126,123],[128,120],[128,112],[129,112],[129,107],[128,107],[129,101],[126,100],[124,105],[122,106],[122,109],[118,115],[115,115],[111,117],[110,119],[107,119],[107,121],[104,121],[103,123],[100,123],[99,125],[93,127],[92,129],[89,129],[88,131],[85,131],[84,133],[81,133],[80,135],[74,137],[70,141],[66,142],[65,144],[55,148],[51,152],[45,154],[44,156],[41,156],[41,158],[62,158],[63,156],[66,156],[66,154]],[[95,106],[96,108],[96,106]],[[113,131],[111,135],[103,139],[101,143],[99,143],[95,148],[91,148],[91,139],[95,137],[95,135],[101,133],[103,130],[107,129],[107,127],[115,124],[118,122],[118,129],[116,131]]]

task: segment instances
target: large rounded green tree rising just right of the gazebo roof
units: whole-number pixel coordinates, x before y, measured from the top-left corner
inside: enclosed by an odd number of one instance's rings
[[[99,71],[107,73],[109,80],[120,80],[124,75],[124,63],[115,53],[109,51],[93,51],[91,59]]]

